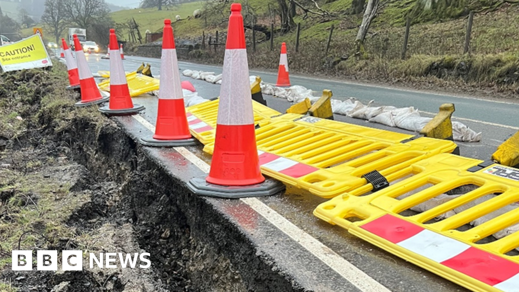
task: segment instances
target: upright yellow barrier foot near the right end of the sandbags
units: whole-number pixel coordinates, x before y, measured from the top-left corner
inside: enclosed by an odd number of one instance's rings
[[[420,134],[436,139],[453,141],[453,124],[450,121],[454,113],[454,103],[444,103],[440,106],[440,112],[425,125]]]

